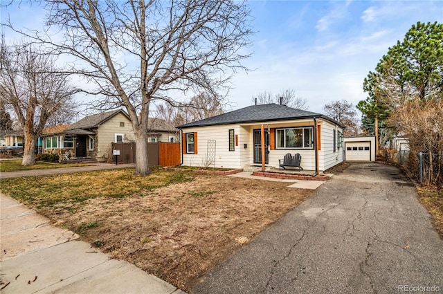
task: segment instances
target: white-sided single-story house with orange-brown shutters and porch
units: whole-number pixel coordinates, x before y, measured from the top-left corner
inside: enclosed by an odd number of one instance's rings
[[[190,122],[182,132],[183,165],[278,167],[287,153],[300,154],[305,170],[324,172],[343,161],[343,125],[320,113],[262,104]]]

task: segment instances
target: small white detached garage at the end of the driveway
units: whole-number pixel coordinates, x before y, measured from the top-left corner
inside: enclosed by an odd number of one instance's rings
[[[346,137],[345,160],[375,161],[375,137]]]

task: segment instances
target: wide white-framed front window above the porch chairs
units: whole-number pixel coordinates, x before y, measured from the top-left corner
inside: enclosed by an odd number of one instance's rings
[[[275,129],[277,148],[313,148],[314,135],[312,127],[293,127]]]

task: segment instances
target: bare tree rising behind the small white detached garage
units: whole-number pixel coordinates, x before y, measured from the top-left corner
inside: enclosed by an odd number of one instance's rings
[[[345,126],[345,136],[356,136],[359,134],[359,122],[355,106],[346,100],[336,100],[323,106],[326,115]]]

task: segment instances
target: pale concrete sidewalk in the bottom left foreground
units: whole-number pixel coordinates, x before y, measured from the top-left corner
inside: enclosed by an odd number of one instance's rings
[[[0,212],[1,293],[184,293],[76,240],[3,193]]]

